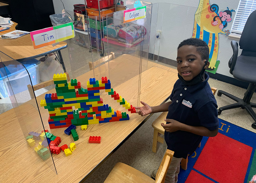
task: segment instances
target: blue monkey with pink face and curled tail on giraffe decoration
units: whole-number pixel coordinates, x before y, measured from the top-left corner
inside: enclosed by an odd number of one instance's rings
[[[217,4],[212,4],[210,6],[210,11],[215,12],[217,14],[217,16],[215,16],[213,18],[214,22],[212,24],[216,26],[218,24],[218,20],[216,20],[216,18],[219,18],[220,21],[221,21],[221,23],[219,25],[219,28],[222,30],[223,28],[225,28],[227,26],[227,22],[231,22],[232,21],[232,18],[231,18],[232,12],[235,11],[235,10],[233,10],[233,9],[229,10],[229,8],[227,7],[227,10],[225,10],[223,12],[220,11],[218,13],[219,6]]]

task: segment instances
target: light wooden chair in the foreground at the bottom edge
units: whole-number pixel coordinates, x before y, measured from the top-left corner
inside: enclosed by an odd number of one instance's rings
[[[156,179],[143,174],[139,170],[124,163],[116,163],[104,183],[164,183],[167,170],[172,161],[174,152],[167,150],[158,168]]]

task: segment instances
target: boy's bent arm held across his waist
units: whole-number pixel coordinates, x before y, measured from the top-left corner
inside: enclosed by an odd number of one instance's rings
[[[189,126],[187,124],[180,123],[173,119],[164,119],[164,121],[170,122],[168,124],[161,123],[162,127],[167,132],[175,132],[178,130],[182,130],[182,131],[186,131],[186,132],[190,132],[190,133],[194,133],[194,134],[206,136],[206,137],[215,137],[218,133],[218,129],[210,131],[206,127]]]

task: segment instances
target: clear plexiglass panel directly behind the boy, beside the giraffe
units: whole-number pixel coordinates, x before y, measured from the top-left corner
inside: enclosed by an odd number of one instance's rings
[[[153,4],[149,60],[177,66],[177,47],[181,41],[192,37],[196,10],[169,3]]]

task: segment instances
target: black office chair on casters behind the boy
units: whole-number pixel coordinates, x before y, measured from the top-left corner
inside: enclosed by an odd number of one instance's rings
[[[234,78],[248,82],[249,86],[243,99],[219,90],[217,93],[218,96],[223,94],[235,100],[236,103],[220,107],[218,109],[218,115],[220,115],[223,110],[241,107],[242,109],[246,109],[256,122],[256,114],[252,109],[252,107],[256,107],[256,104],[250,102],[256,88],[256,10],[251,13],[245,23],[244,30],[239,41],[239,46],[240,49],[242,49],[242,53],[240,56],[237,56],[238,43],[234,40],[231,41],[233,56],[229,60],[229,72],[234,76]],[[256,129],[255,122],[252,124],[254,129]]]

